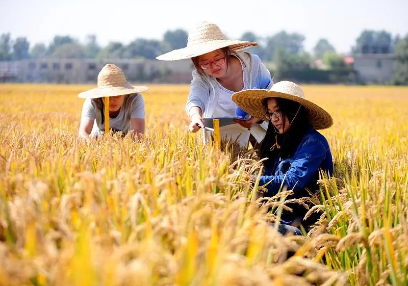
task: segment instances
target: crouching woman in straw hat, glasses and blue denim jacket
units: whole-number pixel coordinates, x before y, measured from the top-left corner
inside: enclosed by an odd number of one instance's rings
[[[304,97],[303,90],[292,82],[278,82],[270,90],[247,90],[235,93],[234,102],[254,117],[270,122],[260,149],[264,173],[260,185],[269,183],[264,196],[278,193],[281,185],[293,194],[287,199],[309,197],[318,190],[319,172],[333,175],[333,159],[326,138],[317,132],[333,125],[333,119],[321,107]],[[308,212],[303,205],[288,203],[283,211],[286,225],[308,228],[317,217],[303,220]]]

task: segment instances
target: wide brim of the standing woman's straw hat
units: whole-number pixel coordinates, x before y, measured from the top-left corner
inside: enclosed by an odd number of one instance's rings
[[[197,44],[191,44],[187,47],[174,49],[169,51],[166,54],[156,57],[158,60],[162,61],[177,61],[177,60],[185,60],[191,59],[194,57],[198,57],[207,53],[210,53],[213,50],[223,48],[223,47],[230,47],[235,51],[244,50],[250,47],[258,46],[259,43],[257,42],[248,42],[248,41],[240,41],[240,40],[230,40],[230,39],[223,39],[223,40],[212,40]]]

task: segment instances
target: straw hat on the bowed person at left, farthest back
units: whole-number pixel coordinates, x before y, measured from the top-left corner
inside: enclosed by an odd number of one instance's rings
[[[98,74],[98,87],[78,94],[80,98],[98,98],[126,95],[146,91],[147,86],[132,86],[123,71],[114,64],[107,64]]]

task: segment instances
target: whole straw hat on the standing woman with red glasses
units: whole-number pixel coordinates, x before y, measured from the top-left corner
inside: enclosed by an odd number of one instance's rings
[[[177,61],[198,57],[213,50],[230,47],[235,51],[258,46],[257,42],[232,40],[225,38],[218,25],[209,22],[200,22],[188,35],[187,46],[174,49],[156,59],[162,61]]]

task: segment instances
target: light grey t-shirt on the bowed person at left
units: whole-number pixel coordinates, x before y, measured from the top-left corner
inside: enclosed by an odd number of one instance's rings
[[[100,99],[99,99],[100,100]],[[105,120],[102,123],[101,108],[97,107],[95,100],[86,98],[82,106],[82,118],[95,120],[91,134],[100,135],[105,129]],[[127,134],[132,129],[132,118],[144,118],[144,100],[141,94],[133,93],[125,95],[123,105],[120,108],[118,116],[109,119],[109,128],[122,131]]]

